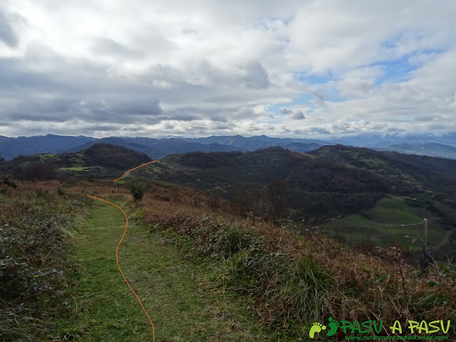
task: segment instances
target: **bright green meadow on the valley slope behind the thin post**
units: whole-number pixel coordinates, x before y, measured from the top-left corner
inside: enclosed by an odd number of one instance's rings
[[[331,237],[345,237],[353,244],[371,243],[375,246],[390,247],[395,244],[408,244],[409,237],[417,237],[414,249],[421,248],[420,237],[423,237],[423,225],[398,226],[398,224],[415,224],[423,221],[422,209],[410,207],[400,197],[384,197],[375,207],[366,211],[366,216],[353,214],[323,224],[321,228]],[[436,247],[447,234],[447,231],[428,213],[427,241],[429,246]],[[380,223],[380,224],[376,224]],[[394,226],[382,224],[395,224]]]

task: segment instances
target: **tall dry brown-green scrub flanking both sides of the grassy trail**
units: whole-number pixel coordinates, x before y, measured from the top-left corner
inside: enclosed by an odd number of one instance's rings
[[[165,183],[150,183],[142,201],[134,202],[128,189],[112,182],[66,186],[2,177],[2,339],[58,338],[53,318],[71,305],[61,297],[72,270],[66,244],[92,202],[86,194],[126,199],[131,219],[204,266],[208,287],[244,299],[261,325],[282,336],[305,336],[312,321],[328,316],[386,324],[456,319],[455,279],[447,265],[422,272],[398,248],[361,254],[315,227],[238,217],[224,200],[214,205],[214,194]]]

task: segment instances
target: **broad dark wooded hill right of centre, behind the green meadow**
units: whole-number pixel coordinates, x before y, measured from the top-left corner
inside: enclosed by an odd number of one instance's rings
[[[291,213],[318,220],[368,209],[387,194],[430,198],[429,191],[454,199],[456,178],[451,170],[456,161],[422,158],[341,145],[306,154],[269,147],[244,153],[169,155],[153,166],[153,174],[143,175],[217,191],[234,201],[241,192],[244,199],[253,197],[247,207],[254,212],[261,212],[268,202],[271,182],[282,180]]]

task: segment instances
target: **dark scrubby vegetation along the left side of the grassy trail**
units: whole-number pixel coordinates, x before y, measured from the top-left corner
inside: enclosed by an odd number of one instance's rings
[[[61,300],[73,271],[68,241],[89,203],[77,187],[0,177],[1,341],[56,337],[53,319],[71,305]]]

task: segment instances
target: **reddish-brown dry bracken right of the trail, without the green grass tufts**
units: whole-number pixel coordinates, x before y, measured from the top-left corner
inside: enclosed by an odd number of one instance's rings
[[[199,253],[198,262],[205,258],[209,269],[219,271],[218,279],[232,276],[237,271],[233,260],[239,262],[239,258],[242,259],[249,253],[251,256],[257,254],[252,254],[256,248],[253,245],[242,246],[240,250],[234,249],[232,254],[227,254],[226,246],[223,249],[222,244],[223,239],[228,239],[229,232],[222,234],[217,229],[249,232],[252,244],[264,241],[261,248],[265,251],[290,256],[290,269],[297,269],[296,265],[302,260],[310,260],[311,268],[315,267],[323,274],[322,279],[327,279],[324,286],[328,288],[322,291],[321,296],[317,296],[320,309],[315,312],[299,307],[299,301],[290,297],[294,289],[286,289],[283,269],[270,270],[269,278],[265,277],[261,281],[261,274],[257,274],[257,279],[250,280],[254,281],[254,290],[248,288],[248,284],[244,291],[240,289],[240,283],[239,286],[232,283],[228,286],[222,281],[219,286],[224,289],[232,289],[246,296],[249,303],[249,299],[254,300],[254,310],[257,311],[260,323],[275,324],[282,328],[285,326],[293,331],[293,324],[299,326],[328,316],[345,321],[383,320],[391,324],[396,320],[405,323],[408,320],[456,319],[453,305],[456,303],[455,279],[446,269],[430,266],[425,273],[421,273],[418,267],[405,262],[398,249],[373,254],[361,253],[353,247],[328,239],[316,227],[309,227],[306,231],[292,224],[289,227],[276,227],[258,218],[253,221],[252,218],[234,215],[226,203],[222,204],[222,208],[209,212],[204,205],[204,195],[195,190],[182,189],[177,195],[179,200],[174,201],[172,192],[175,189],[157,186],[154,190],[147,193],[138,206],[144,221],[150,224],[152,230],[167,229],[167,232],[173,232],[167,234],[167,237],[172,237],[171,241],[178,246],[182,245],[180,237],[185,237],[185,241],[190,240],[191,244],[197,246],[190,250],[193,254],[195,251]],[[194,196],[200,199],[198,207],[192,205]],[[214,237],[218,240],[211,240]],[[204,254],[206,251],[209,252]],[[302,277],[301,273],[296,274],[295,278]],[[212,281],[214,279],[217,277]],[[438,285],[428,286],[431,280],[438,282]],[[263,293],[257,291],[258,286]],[[282,293],[269,294],[268,291],[276,291],[274,286],[280,286]],[[301,290],[296,288],[296,292]],[[313,298],[309,294],[299,296],[307,301]]]

